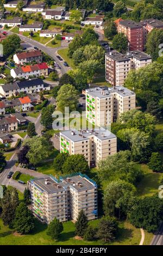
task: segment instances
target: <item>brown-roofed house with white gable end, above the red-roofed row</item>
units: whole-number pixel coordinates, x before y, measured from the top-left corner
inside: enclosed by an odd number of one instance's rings
[[[14,54],[13,56],[14,62],[16,64],[24,64],[24,63],[29,63],[29,62],[42,62],[42,53],[41,51],[28,51],[28,52],[19,52]]]

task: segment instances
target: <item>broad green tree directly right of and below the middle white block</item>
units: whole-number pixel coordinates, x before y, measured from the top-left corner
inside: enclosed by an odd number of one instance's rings
[[[141,170],[137,169],[135,163],[131,161],[129,150],[119,151],[99,162],[98,173],[102,180],[122,179],[133,184],[142,176]]]

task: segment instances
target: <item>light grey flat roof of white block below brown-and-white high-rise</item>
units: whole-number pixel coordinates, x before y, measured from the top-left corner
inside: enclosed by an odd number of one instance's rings
[[[131,96],[135,95],[134,92],[129,90],[128,88],[124,86],[115,86],[115,87],[94,87],[91,89],[86,89],[85,90],[87,93],[92,95],[93,97],[99,97],[100,99],[104,97],[109,97],[112,96],[114,93],[118,93],[121,96]]]

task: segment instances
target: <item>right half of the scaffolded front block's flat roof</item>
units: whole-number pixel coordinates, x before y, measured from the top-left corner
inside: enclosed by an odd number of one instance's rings
[[[95,188],[95,185],[93,185],[91,181],[86,178],[82,178],[82,176],[80,175],[62,178],[61,180],[63,181],[63,184],[71,186],[78,191],[90,190],[91,188]]]

